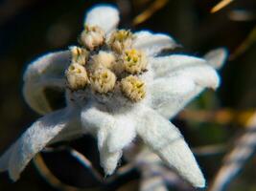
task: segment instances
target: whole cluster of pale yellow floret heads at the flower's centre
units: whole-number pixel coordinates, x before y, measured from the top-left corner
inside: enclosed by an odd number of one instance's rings
[[[146,96],[145,82],[139,76],[147,71],[145,53],[132,47],[134,35],[119,30],[110,33],[98,26],[85,26],[79,42],[70,47],[71,64],[65,71],[71,91],[89,89],[93,93],[119,92],[137,102]]]

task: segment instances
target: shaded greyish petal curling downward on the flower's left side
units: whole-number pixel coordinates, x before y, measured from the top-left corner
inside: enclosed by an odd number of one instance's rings
[[[46,114],[52,111],[44,90],[47,87],[64,88],[64,72],[70,58],[69,51],[47,53],[28,66],[23,76],[23,96],[37,113]]]

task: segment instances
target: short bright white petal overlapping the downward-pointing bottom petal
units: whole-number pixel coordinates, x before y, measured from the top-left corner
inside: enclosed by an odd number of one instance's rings
[[[122,150],[124,147],[128,146],[135,136],[133,118],[127,116],[119,117],[114,126],[109,130],[109,136],[107,138],[109,152]]]

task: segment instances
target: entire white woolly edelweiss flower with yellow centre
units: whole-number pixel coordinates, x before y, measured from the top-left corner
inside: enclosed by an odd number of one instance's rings
[[[196,159],[169,118],[204,88],[219,86],[213,66],[222,63],[225,53],[219,50],[207,59],[156,56],[175,48],[170,36],[117,30],[118,22],[115,8],[96,7],[85,17],[81,47],[48,53],[29,65],[23,93],[45,116],[0,159],[0,171],[8,171],[12,180],[46,145],[89,133],[98,138],[106,175],[116,169],[123,148],[139,137],[185,180],[205,185]],[[52,112],[44,92],[49,87],[65,92],[65,108]]]

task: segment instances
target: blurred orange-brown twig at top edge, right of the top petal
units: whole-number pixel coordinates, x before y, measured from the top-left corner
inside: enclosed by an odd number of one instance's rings
[[[141,12],[139,15],[137,15],[133,21],[132,25],[139,25],[140,23],[145,22],[147,19],[151,17],[151,15],[162,9],[169,0],[155,0],[148,8],[147,10]]]

